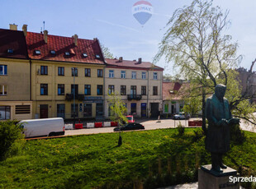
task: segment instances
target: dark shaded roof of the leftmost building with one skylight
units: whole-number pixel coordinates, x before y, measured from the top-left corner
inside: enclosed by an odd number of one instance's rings
[[[9,48],[13,49],[13,53],[7,53]],[[27,58],[26,40],[23,31],[0,29],[0,57]]]

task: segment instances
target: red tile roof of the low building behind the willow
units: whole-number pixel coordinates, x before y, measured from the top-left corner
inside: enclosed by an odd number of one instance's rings
[[[189,93],[189,88],[190,83],[163,82],[163,100],[185,99],[186,95]]]

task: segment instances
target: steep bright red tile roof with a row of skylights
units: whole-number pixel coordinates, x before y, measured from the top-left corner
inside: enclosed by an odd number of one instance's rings
[[[78,46],[75,46],[72,37],[48,35],[47,44],[45,44],[44,34],[27,32],[26,44],[31,59],[105,64],[97,39],[78,39]],[[36,54],[35,50],[40,50],[40,54]],[[56,53],[51,54],[51,50],[55,50]],[[70,55],[66,56],[65,53]],[[83,57],[83,53],[88,57]],[[100,58],[96,58],[97,54]]]

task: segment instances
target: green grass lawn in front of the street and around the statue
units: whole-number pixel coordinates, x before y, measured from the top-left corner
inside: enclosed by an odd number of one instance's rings
[[[186,128],[129,131],[27,141],[25,150],[0,163],[0,188],[145,188],[197,181],[199,164],[210,164],[204,138]],[[225,164],[242,175],[256,173],[256,134],[235,145]]]

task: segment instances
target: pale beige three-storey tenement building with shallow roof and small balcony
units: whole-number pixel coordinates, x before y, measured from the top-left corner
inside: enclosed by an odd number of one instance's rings
[[[151,62],[106,59],[105,117],[110,115],[107,99],[112,92],[121,95],[127,114],[135,117],[157,117],[162,110],[162,79],[164,69]]]

